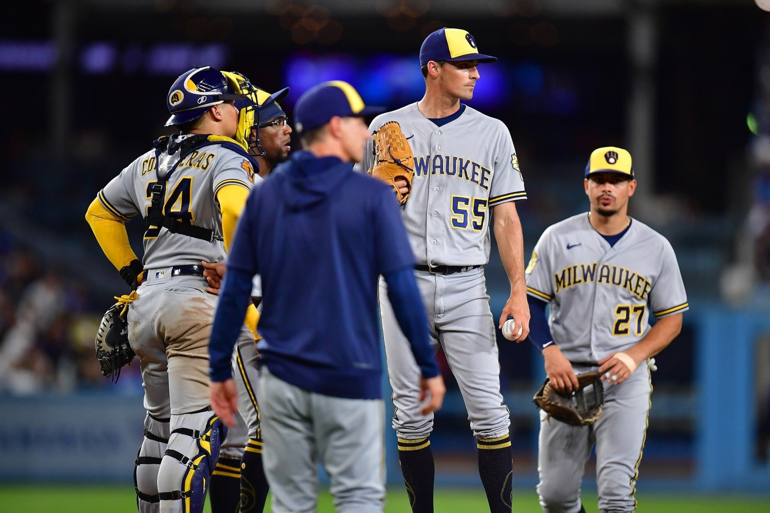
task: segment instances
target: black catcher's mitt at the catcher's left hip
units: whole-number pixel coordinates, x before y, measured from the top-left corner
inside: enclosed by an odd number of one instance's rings
[[[102,368],[103,376],[110,376],[113,383],[118,382],[120,369],[130,365],[136,353],[129,345],[129,322],[127,313],[129,303],[136,299],[136,291],[128,295],[115,297],[118,300],[102,317],[99,331],[96,332],[94,345],[96,359]]]

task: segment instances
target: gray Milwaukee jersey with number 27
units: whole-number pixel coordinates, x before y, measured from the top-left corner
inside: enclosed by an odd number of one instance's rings
[[[688,309],[671,244],[634,219],[613,246],[575,215],[543,233],[527,293],[550,301],[554,342],[570,361],[599,361],[635,345],[656,318]]]

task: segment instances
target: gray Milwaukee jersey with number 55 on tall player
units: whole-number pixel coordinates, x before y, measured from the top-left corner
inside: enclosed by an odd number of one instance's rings
[[[459,118],[438,127],[413,103],[377,116],[370,129],[390,121],[399,122],[414,154],[403,222],[418,263],[486,264],[490,208],[527,198],[508,128],[467,105]],[[372,144],[363,169],[373,166]]]

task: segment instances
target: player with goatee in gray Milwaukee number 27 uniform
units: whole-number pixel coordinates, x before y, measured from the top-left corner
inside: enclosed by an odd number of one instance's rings
[[[543,352],[554,388],[576,389],[575,374],[585,371],[598,370],[604,380],[604,409],[594,425],[573,427],[541,412],[537,493],[549,513],[585,511],[581,480],[594,445],[599,509],[636,509],[649,358],[678,335],[688,309],[671,244],[627,215],[636,188],[631,155],[612,146],[594,150],[584,188],[591,211],[547,228],[527,267],[530,340]]]

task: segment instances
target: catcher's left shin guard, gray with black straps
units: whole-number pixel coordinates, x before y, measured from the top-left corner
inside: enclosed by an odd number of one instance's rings
[[[145,417],[144,440],[134,462],[134,490],[139,513],[156,513],[160,509],[158,470],[169,444],[169,419]]]

